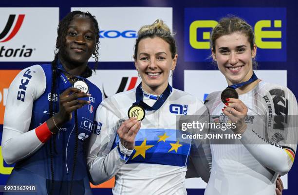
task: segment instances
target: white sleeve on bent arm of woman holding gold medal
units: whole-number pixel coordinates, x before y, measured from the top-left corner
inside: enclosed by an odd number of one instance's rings
[[[126,149],[121,142],[112,149],[117,130],[123,121],[112,112],[105,100],[96,110],[95,121],[97,130],[90,137],[87,164],[91,182],[97,185],[115,176],[133,150]]]

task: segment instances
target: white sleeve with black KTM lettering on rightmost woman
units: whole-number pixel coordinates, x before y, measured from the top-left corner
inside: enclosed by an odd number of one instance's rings
[[[241,142],[262,165],[279,175],[285,175],[293,165],[297,149],[297,101],[287,88],[271,89],[268,92],[266,97],[272,113],[267,110],[267,136],[262,136],[257,128],[247,128]],[[271,114],[270,122],[268,117]]]

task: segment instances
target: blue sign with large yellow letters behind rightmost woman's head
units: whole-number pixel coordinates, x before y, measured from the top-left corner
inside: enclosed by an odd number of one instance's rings
[[[185,8],[185,61],[209,61],[210,33],[218,20],[232,14],[255,32],[257,61],[287,60],[286,8]]]

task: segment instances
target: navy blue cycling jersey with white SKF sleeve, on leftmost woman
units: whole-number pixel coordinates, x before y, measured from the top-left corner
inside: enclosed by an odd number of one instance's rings
[[[94,129],[97,129],[97,123],[93,119],[97,107],[102,101],[100,89],[88,79],[84,80],[87,82],[90,89],[89,93],[92,96],[82,98],[89,100],[91,104],[77,110],[79,140],[74,180],[80,180],[88,176],[83,144],[91,134],[96,133]],[[7,150],[4,159],[8,163],[16,162],[11,177],[14,177],[16,171],[26,170],[29,171],[28,173],[32,172],[40,178],[51,179],[50,140],[44,144],[41,143],[37,139],[34,130],[49,119],[49,102],[53,101],[57,112],[59,110],[59,94],[72,86],[63,72],[58,70],[55,86],[56,93],[53,95],[53,100],[51,100],[51,83],[51,65],[35,65],[21,71],[9,88],[4,116],[2,147]],[[18,121],[16,122],[16,120]],[[53,150],[54,179],[57,181],[70,181],[75,148],[74,113],[71,121],[64,124],[56,133],[55,139],[56,153]],[[16,145],[16,142],[18,142],[18,145]],[[9,180],[18,182],[18,178],[16,179],[10,178]],[[22,181],[19,181],[18,184],[21,183]]]

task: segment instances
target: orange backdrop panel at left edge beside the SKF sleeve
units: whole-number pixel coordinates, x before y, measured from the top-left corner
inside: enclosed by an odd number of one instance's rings
[[[8,88],[19,71],[20,70],[0,70],[0,124],[3,124]]]

